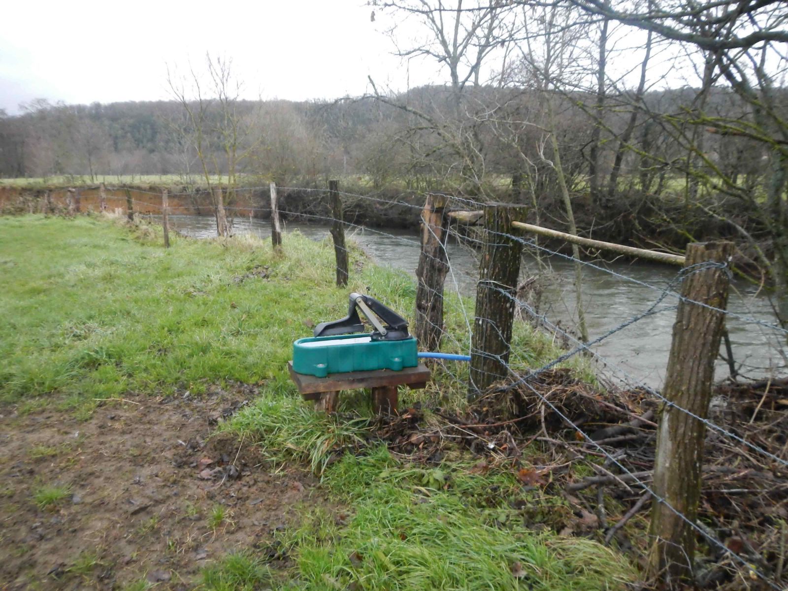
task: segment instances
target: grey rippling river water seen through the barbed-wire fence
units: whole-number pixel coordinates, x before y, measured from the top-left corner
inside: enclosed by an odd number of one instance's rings
[[[213,217],[194,215],[170,216],[170,225],[186,236],[205,238],[216,236]],[[252,233],[263,238],[270,236],[268,221],[236,218],[236,235]],[[299,231],[313,239],[322,240],[329,236],[328,225],[303,224],[288,221],[285,232]],[[418,235],[407,230],[348,229],[348,237],[355,240],[371,258],[381,265],[403,269],[414,276],[418,265]],[[286,236],[285,236],[286,240]],[[286,247],[286,243],[285,243]],[[447,246],[451,272],[446,279],[446,288],[463,294],[473,294],[478,277],[478,263],[473,250],[459,243]],[[552,269],[548,274],[541,312],[551,322],[560,322],[563,328],[574,328],[574,267],[567,258],[552,255],[547,258]],[[583,301],[589,336],[594,338],[608,333],[629,318],[641,314],[656,302],[661,292],[676,277],[673,266],[643,262],[595,262],[606,270],[584,267]],[[530,275],[537,269],[533,255],[525,255],[523,274]],[[612,273],[617,273],[621,277]],[[675,307],[678,300],[667,296],[657,309]],[[767,297],[746,282],[734,281],[730,292],[728,310],[745,318],[773,324],[774,314]],[[410,310],[400,310],[408,314]],[[330,319],[330,318],[326,318]],[[593,350],[608,361],[608,374],[625,381],[641,381],[659,388],[662,385],[671,346],[671,330],[675,310],[666,310],[643,318],[597,344]],[[782,367],[785,373],[785,358],[788,348],[782,333],[765,326],[747,322],[729,315],[727,328],[730,333],[734,359],[744,363],[741,372],[749,377],[770,375],[770,367]],[[620,368],[613,372],[612,367]],[[727,364],[718,363],[716,378],[727,376]]]

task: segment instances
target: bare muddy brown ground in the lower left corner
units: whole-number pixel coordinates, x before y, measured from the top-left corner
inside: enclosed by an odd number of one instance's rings
[[[270,474],[250,441],[209,439],[254,396],[107,401],[85,422],[0,407],[0,589],[191,589],[210,561],[268,547],[324,501],[305,474]]]

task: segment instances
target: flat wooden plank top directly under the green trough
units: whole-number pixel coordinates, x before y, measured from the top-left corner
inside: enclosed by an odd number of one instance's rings
[[[415,367],[405,367],[400,371],[351,371],[346,374],[329,374],[326,377],[315,377],[307,374],[296,374],[293,371],[293,362],[288,361],[288,370],[292,381],[296,383],[298,391],[303,395],[398,385],[424,388],[430,377],[429,369],[422,363]],[[311,398],[318,398],[318,396],[304,396],[304,398],[310,400]]]

